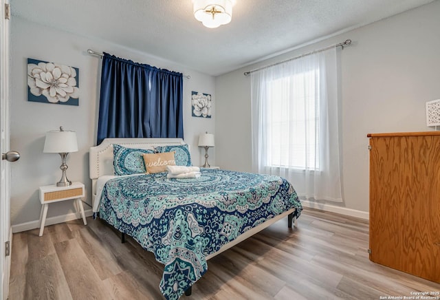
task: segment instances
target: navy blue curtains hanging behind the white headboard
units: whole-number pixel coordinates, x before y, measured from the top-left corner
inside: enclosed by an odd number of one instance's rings
[[[104,53],[98,138],[184,138],[183,76]]]

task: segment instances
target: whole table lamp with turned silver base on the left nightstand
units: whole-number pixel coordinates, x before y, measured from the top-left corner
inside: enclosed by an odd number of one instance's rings
[[[70,152],[78,151],[78,142],[76,140],[76,132],[64,130],[60,127],[60,130],[48,131],[46,133],[46,139],[44,142],[44,153],[59,153],[61,156],[61,180],[56,182],[56,186],[69,186],[72,184],[70,180],[67,179],[66,170],[66,158]]]

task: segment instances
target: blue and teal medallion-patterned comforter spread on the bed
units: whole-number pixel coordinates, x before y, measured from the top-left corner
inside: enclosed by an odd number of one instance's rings
[[[284,178],[202,169],[200,178],[156,173],[109,180],[99,213],[154,253],[165,265],[162,294],[178,299],[208,270],[207,255],[290,208],[300,215],[296,192]]]

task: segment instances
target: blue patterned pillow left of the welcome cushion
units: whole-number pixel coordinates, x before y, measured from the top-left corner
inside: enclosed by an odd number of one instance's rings
[[[115,175],[131,175],[145,173],[142,154],[154,153],[153,150],[126,148],[113,144],[113,167]]]

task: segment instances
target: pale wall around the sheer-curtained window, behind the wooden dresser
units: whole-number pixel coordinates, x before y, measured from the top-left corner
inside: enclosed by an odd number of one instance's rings
[[[434,1],[217,77],[217,164],[252,170],[250,77],[243,72],[352,39],[340,51],[345,201],[327,204],[369,211],[366,134],[432,130],[426,127],[425,103],[440,98],[439,16],[440,1]]]

